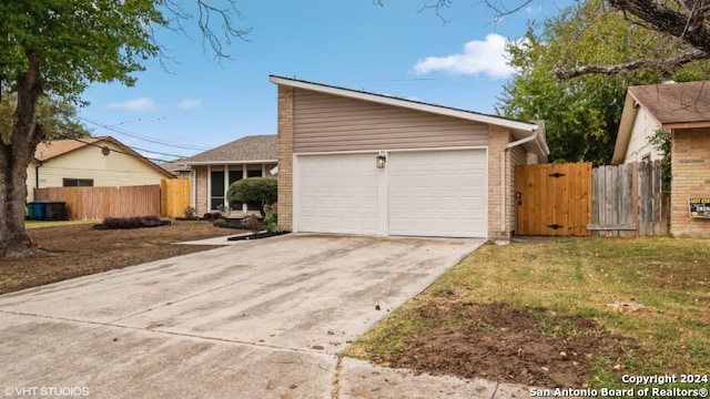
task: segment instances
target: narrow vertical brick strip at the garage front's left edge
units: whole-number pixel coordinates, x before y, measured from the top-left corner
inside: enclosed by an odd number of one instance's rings
[[[293,88],[278,86],[278,227],[293,229]]]

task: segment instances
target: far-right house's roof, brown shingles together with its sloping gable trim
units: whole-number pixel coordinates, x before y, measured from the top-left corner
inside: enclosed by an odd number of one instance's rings
[[[611,157],[615,165],[626,158],[639,109],[651,115],[661,129],[708,127],[710,81],[630,86],[626,94]]]

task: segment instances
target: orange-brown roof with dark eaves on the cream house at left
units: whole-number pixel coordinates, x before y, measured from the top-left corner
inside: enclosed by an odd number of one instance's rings
[[[34,150],[34,160],[36,162],[41,164],[60,156],[71,154],[74,151],[78,151],[88,146],[102,147],[103,145],[101,143],[111,143],[118,146],[119,149],[121,149],[120,151],[121,153],[133,156],[140,162],[144,162],[145,164],[155,168],[160,173],[164,174],[165,177],[173,177],[173,175],[170,172],[160,167],[155,163],[151,162],[149,158],[136,153],[125,144],[121,143],[120,141],[111,136],[61,139],[61,140],[50,140],[47,142],[41,142],[40,144],[38,144],[37,149]]]

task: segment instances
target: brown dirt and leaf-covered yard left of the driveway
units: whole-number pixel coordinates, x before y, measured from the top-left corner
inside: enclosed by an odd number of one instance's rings
[[[0,294],[211,249],[214,246],[172,244],[232,233],[206,221],[176,221],[166,226],[132,229],[64,225],[27,232],[51,256],[2,259]]]

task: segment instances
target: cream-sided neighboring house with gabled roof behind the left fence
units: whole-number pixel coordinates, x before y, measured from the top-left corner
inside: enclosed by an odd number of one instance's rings
[[[160,184],[173,176],[111,136],[42,142],[27,168],[28,202],[33,188]]]

